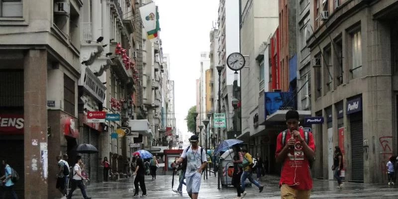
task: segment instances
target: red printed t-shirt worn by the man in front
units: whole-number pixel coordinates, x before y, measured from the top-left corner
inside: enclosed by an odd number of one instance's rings
[[[302,128],[299,128],[299,132],[302,139],[305,142],[304,132]],[[290,131],[288,130],[285,136],[285,145],[288,143],[288,140],[290,138],[291,134]],[[312,133],[308,133],[308,146],[309,148],[315,151],[315,144],[314,144],[314,139],[312,137]],[[279,133],[277,138],[277,150],[275,153],[275,157],[278,157],[283,147],[284,146],[282,145],[282,133]],[[296,174],[296,180],[295,180],[295,174]],[[298,185],[294,185],[296,183],[298,183]],[[285,158],[285,161],[283,162],[281,180],[279,182],[279,186],[282,186],[282,184],[294,185],[291,187],[297,190],[312,189],[312,179],[309,173],[308,159],[304,155],[301,143],[298,141],[297,138],[296,138],[295,149],[290,149],[290,152],[288,153],[288,155]]]

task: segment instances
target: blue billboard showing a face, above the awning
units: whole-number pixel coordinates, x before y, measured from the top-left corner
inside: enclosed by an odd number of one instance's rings
[[[296,99],[293,92],[265,92],[265,116],[277,110],[296,110]]]

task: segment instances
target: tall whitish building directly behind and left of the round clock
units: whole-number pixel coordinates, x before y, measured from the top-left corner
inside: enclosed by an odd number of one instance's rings
[[[221,76],[221,104],[225,112],[226,128],[223,128],[222,139],[227,139],[227,132],[233,135],[233,82],[234,71],[227,67],[226,59],[233,52],[240,52],[239,47],[239,0],[220,0],[218,5],[218,65],[224,66]],[[239,75],[237,77],[239,85]]]

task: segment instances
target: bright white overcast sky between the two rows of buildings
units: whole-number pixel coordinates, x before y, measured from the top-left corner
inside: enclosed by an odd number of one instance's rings
[[[196,105],[200,52],[210,50],[209,33],[218,17],[218,0],[155,0],[159,6],[163,53],[170,54],[177,130],[186,133],[184,118]]]

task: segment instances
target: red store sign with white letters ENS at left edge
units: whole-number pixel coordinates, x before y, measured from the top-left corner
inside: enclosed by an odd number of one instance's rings
[[[23,115],[0,113],[0,132],[23,133]]]

